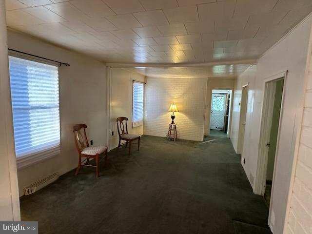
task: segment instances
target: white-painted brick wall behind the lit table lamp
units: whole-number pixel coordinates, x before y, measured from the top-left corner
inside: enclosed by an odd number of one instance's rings
[[[203,139],[207,78],[147,78],[144,135],[165,137],[171,122],[170,104],[175,101],[177,135]]]

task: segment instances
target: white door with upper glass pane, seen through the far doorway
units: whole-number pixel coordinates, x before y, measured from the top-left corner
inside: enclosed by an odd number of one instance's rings
[[[213,94],[211,100],[210,129],[223,130],[226,94]]]

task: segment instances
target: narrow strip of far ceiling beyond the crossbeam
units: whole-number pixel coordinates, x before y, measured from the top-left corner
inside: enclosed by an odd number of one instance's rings
[[[236,78],[250,65],[213,65],[203,67],[136,67],[125,70],[154,78]]]

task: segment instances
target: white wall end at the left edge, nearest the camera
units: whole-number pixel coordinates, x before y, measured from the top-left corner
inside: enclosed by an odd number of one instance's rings
[[[20,220],[4,1],[0,1],[0,220]]]

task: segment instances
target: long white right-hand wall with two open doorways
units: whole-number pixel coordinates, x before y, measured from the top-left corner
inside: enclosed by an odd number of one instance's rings
[[[258,160],[260,136],[260,117],[264,92],[264,79],[288,70],[285,82],[284,107],[281,118],[280,139],[275,165],[275,181],[271,197],[272,212],[269,224],[274,234],[283,232],[286,204],[292,173],[294,142],[301,118],[300,100],[303,98],[304,72],[306,67],[311,18],[304,20],[287,37],[268,50],[257,63],[257,67],[248,69],[238,77],[235,95],[240,95],[241,84],[249,82],[249,106],[246,121],[242,164],[253,188]],[[234,97],[235,98],[235,97]],[[238,98],[239,99],[239,98]],[[237,99],[234,100],[235,121],[232,122],[232,142],[237,148]],[[235,136],[235,137],[234,137]]]

